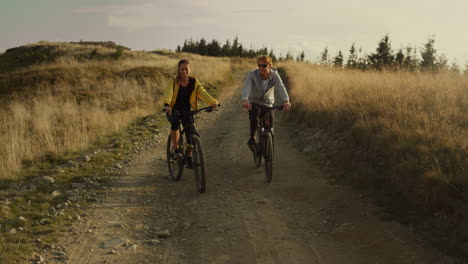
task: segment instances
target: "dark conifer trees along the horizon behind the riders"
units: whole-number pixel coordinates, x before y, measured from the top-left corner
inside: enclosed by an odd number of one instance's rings
[[[300,52],[297,56],[288,52],[284,56],[280,54],[280,56],[277,57],[273,49],[268,49],[267,47],[259,49],[244,47],[244,45],[239,42],[238,37],[235,37],[232,43],[227,39],[223,44],[215,39],[211,42],[207,42],[204,38],[197,41],[186,39],[182,46],[177,46],[176,51],[190,52],[204,56],[241,58],[254,58],[259,55],[268,54],[273,61],[305,61],[304,51]],[[358,69],[362,71],[404,70],[411,72],[430,71],[435,73],[440,71],[453,71],[460,73],[460,68],[455,62],[449,65],[445,55],[438,53],[435,48],[435,38],[433,36],[428,38],[419,51],[416,47],[411,46],[394,51],[391,47],[390,36],[388,34],[380,39],[377,48],[370,54],[363,53],[362,49],[358,48],[355,43],[351,45],[346,58],[341,50],[339,50],[335,56],[331,56],[328,47],[325,47],[317,58],[316,63],[336,68]],[[467,73],[467,70],[465,73]]]

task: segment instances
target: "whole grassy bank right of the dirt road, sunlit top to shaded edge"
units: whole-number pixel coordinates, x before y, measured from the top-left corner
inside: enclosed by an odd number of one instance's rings
[[[338,181],[434,245],[468,256],[468,76],[281,64],[291,118],[319,131]]]

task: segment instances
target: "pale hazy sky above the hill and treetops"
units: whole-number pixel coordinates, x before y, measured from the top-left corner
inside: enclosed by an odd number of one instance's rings
[[[185,39],[345,58],[353,43],[374,52],[435,38],[449,63],[468,63],[467,0],[0,0],[0,52],[37,41],[114,41],[132,50],[172,49]]]

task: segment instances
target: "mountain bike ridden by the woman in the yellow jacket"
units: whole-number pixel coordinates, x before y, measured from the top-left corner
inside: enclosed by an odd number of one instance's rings
[[[202,111],[211,112],[213,107],[208,106],[201,108],[195,111],[179,111],[172,110],[172,114],[178,115],[177,118],[180,118],[181,115],[195,115]],[[186,131],[190,131],[189,138],[191,139],[192,144],[184,144],[184,136]],[[203,154],[203,147],[200,140],[200,134],[198,134],[195,128],[195,120],[192,123],[191,127],[182,128],[182,124],[179,124],[179,153],[182,157],[177,157],[175,155],[175,147],[172,143],[171,135],[167,138],[167,148],[166,148],[166,158],[167,166],[169,169],[169,176],[173,181],[179,181],[182,178],[184,172],[184,167],[187,160],[192,155],[193,171],[195,175],[195,185],[199,193],[205,192],[206,187],[206,168],[205,168],[205,156]]]

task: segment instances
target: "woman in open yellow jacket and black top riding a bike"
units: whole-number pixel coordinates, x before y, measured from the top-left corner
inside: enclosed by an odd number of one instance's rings
[[[213,108],[218,107],[218,101],[208,94],[203,88],[203,85],[198,79],[190,74],[190,62],[188,60],[180,60],[177,64],[177,76],[171,78],[164,92],[164,110],[166,111],[167,120],[171,123],[171,139],[175,147],[175,158],[182,158],[179,151],[179,125],[182,125],[186,130],[187,144],[190,142],[190,129],[193,126],[193,115],[180,114],[177,111],[197,110],[198,99],[210,104]],[[173,111],[175,110],[175,111]],[[187,168],[192,168],[192,159],[190,155],[186,160]]]

